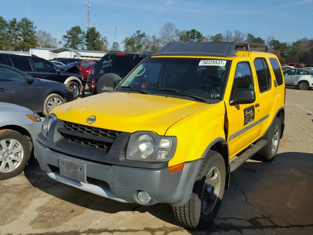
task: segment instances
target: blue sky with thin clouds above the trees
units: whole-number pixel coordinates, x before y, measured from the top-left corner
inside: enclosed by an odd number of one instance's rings
[[[59,41],[70,27],[86,29],[87,0],[2,0],[0,16],[27,17]],[[171,22],[203,36],[239,29],[283,42],[313,38],[313,0],[90,0],[90,24],[112,44],[141,30],[159,35]],[[123,46],[123,45],[121,45]]]

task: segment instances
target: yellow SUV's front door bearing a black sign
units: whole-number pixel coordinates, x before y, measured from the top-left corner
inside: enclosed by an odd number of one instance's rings
[[[233,64],[236,63],[233,61]],[[244,88],[254,90],[254,80],[251,71],[251,62],[239,62],[233,65],[228,78],[225,95],[232,99],[235,89]],[[259,115],[255,112],[255,103],[230,105],[224,98],[226,107],[226,129],[229,148],[229,157],[232,158],[256,140],[258,126],[256,120]]]

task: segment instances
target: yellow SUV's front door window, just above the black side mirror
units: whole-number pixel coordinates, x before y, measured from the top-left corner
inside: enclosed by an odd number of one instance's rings
[[[237,64],[233,87],[231,89],[231,98],[233,97],[234,91],[238,88],[253,89],[253,78],[248,62]]]

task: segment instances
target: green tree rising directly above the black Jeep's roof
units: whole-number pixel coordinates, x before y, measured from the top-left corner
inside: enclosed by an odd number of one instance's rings
[[[145,48],[145,38],[146,33],[137,30],[132,36],[124,39],[124,50],[127,52],[141,52]]]

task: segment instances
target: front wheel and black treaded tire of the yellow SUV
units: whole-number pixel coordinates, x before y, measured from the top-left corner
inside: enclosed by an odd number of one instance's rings
[[[214,188],[209,183],[205,184],[208,173],[211,172],[212,169],[214,172],[212,176],[218,175],[218,173],[220,175],[219,188]],[[215,170],[217,170],[218,173]],[[209,178],[212,177],[209,176]],[[181,207],[173,206],[176,220],[187,228],[201,230],[208,227],[213,222],[220,209],[224,195],[225,178],[226,169],[222,155],[216,151],[209,150],[197,174],[188,203]],[[211,196],[205,195],[204,191],[208,192],[207,194]],[[202,202],[205,196],[209,198],[212,197],[215,200],[215,203],[212,201],[211,209],[207,208],[209,210],[205,210],[205,204]]]

